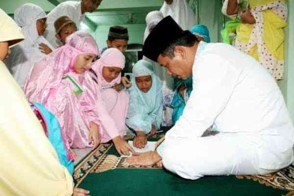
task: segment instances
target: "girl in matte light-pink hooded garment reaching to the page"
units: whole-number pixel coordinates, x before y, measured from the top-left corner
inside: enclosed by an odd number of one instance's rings
[[[125,118],[129,104],[128,93],[121,90],[121,72],[124,68],[123,53],[115,48],[107,49],[93,65],[93,79],[99,86],[98,100],[102,142],[112,140],[120,154],[129,155],[133,149],[123,139],[125,135]]]

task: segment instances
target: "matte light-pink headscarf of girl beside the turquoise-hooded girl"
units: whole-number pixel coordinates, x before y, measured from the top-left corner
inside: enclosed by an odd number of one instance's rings
[[[112,80],[111,82],[107,82],[102,75],[102,69],[103,67],[118,67],[123,69],[125,65],[125,57],[123,53],[116,48],[110,48],[106,49],[102,55],[101,58],[99,58],[95,64],[92,67],[92,70],[95,71],[95,73],[98,76],[98,83],[102,87],[111,87],[115,83],[119,84],[121,83],[121,73],[119,76]]]

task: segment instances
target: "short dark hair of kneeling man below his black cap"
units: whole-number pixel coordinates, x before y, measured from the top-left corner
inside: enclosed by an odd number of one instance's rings
[[[176,46],[184,46],[184,47],[193,47],[196,42],[199,42],[195,35],[193,35],[190,31],[183,31],[183,36],[177,40],[172,41],[172,43],[161,52],[161,55],[168,56],[171,59],[174,57],[174,48]]]

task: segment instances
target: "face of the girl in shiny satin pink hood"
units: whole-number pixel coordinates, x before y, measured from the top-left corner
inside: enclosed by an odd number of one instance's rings
[[[73,65],[73,69],[76,73],[84,73],[88,71],[92,67],[92,61],[96,57],[95,54],[92,53],[82,53],[77,55],[76,60]]]

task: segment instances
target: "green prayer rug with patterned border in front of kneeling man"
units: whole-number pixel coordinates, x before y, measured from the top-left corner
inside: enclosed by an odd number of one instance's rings
[[[289,193],[294,190],[294,166],[265,176],[186,180],[157,166],[128,166],[124,159],[112,143],[100,144],[76,166],[75,187],[91,196],[294,196]]]

